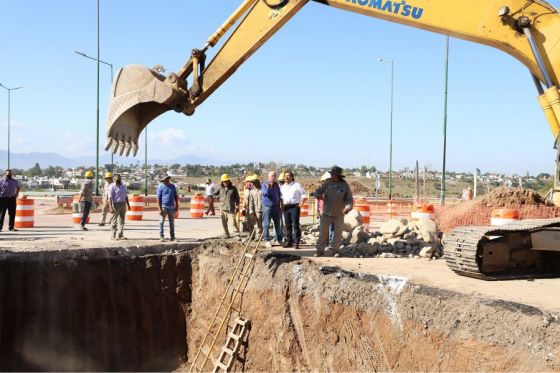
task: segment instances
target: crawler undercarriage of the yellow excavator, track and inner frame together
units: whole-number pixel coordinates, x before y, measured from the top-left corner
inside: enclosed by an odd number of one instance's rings
[[[560,219],[498,227],[461,227],[444,238],[445,260],[459,275],[482,280],[557,277]]]

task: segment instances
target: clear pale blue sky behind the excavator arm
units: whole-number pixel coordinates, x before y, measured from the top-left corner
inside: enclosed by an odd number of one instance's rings
[[[100,0],[101,59],[115,71],[133,63],[176,71],[239,3]],[[96,63],[74,51],[96,55],[96,1],[4,0],[0,13],[0,83],[25,87],[12,92],[11,150],[95,154]],[[390,64],[378,56],[395,61],[394,168],[418,160],[440,169],[445,37],[314,2],[194,116],[152,122],[149,154],[388,169]],[[527,69],[458,39],[449,61],[448,169],[551,173],[553,138]],[[107,66],[100,79],[103,145]],[[0,149],[6,129],[0,90]]]

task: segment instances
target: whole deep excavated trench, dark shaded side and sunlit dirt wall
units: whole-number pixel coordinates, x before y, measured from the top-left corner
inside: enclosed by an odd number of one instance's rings
[[[0,254],[0,370],[188,370],[239,250]],[[236,371],[560,369],[559,315],[327,269],[259,256]]]

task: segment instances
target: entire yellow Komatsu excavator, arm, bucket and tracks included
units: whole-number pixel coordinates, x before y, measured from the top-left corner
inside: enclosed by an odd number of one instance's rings
[[[485,44],[510,54],[529,69],[539,105],[554,138],[558,139],[560,15],[545,1],[314,1]],[[153,119],[168,110],[192,115],[198,105],[308,2],[244,0],[202,48],[192,50],[188,61],[177,72],[164,76],[158,68],[141,65],[120,69],[111,90],[105,149],[136,155],[138,137]],[[206,52],[230,30],[227,40],[207,63]],[[553,199],[558,206],[559,161],[557,156]],[[559,229],[560,219],[522,221],[503,228],[454,230],[445,240],[446,260],[455,272],[486,280],[560,273]]]

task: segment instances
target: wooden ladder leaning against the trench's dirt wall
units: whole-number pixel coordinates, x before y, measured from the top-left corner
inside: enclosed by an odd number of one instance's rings
[[[191,363],[189,372],[199,373],[210,371],[210,369],[206,368],[209,361],[213,365],[212,372],[228,372],[237,357],[239,348],[241,347],[241,343],[245,338],[250,324],[249,320],[241,317],[237,317],[235,319],[231,331],[226,336],[226,342],[220,351],[218,359],[213,359],[211,355],[218,337],[224,327],[228,325],[232,311],[237,312],[238,315],[241,313],[240,309],[234,308],[234,304],[237,300],[237,296],[243,293],[243,290],[251,277],[251,272],[256,260],[256,254],[260,250],[263,235],[261,234],[255,243],[252,241],[255,234],[256,230],[253,230],[247,239],[244,250],[236,263],[235,269],[228,279],[227,287],[224,290],[218,309],[214,313],[214,317],[208,326],[206,335],[204,336],[204,339],[202,340]],[[251,243],[253,243],[253,245],[251,245]],[[216,326],[218,326],[218,330],[213,332],[213,329]]]

